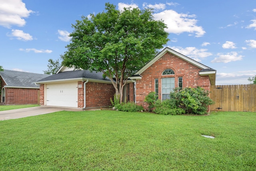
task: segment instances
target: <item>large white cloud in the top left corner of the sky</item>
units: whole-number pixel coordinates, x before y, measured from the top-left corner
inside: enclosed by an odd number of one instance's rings
[[[0,25],[10,28],[12,25],[24,26],[32,10],[26,8],[22,0],[0,0]]]

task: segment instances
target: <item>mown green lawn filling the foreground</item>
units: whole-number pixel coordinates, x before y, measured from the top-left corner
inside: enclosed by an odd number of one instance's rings
[[[256,170],[253,112],[60,111],[0,121],[0,132],[2,171]]]

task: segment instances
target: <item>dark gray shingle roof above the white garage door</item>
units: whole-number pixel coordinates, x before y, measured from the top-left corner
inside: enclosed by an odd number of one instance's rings
[[[110,81],[108,77],[104,78],[102,72],[90,72],[88,70],[75,70],[75,71],[65,71],[59,72],[58,74],[54,74],[52,76],[43,78],[38,80],[37,82],[45,82],[51,80],[65,80],[72,78],[86,78],[86,79],[95,79],[95,80],[103,80]]]

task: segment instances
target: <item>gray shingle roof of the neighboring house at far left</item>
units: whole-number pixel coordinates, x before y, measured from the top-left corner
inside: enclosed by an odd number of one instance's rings
[[[35,74],[30,72],[20,72],[12,70],[4,70],[0,72],[0,76],[8,87],[29,87],[38,88],[34,82],[48,77],[46,74]]]

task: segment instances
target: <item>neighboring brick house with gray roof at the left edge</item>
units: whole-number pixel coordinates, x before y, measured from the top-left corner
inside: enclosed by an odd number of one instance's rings
[[[38,79],[49,75],[4,70],[0,72],[1,105],[38,104]]]

